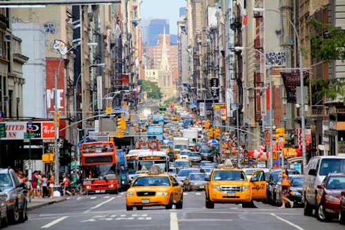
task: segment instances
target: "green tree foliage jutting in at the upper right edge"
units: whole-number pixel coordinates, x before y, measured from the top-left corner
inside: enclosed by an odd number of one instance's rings
[[[345,60],[345,30],[330,24],[309,19],[308,25],[313,32],[308,34],[311,39],[311,55],[320,61]],[[345,103],[345,78],[312,79],[312,86],[316,89],[314,97],[326,96],[331,99],[339,97]]]

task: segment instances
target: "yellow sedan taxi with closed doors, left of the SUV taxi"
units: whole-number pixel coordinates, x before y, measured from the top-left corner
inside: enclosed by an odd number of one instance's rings
[[[171,209],[175,204],[176,209],[182,209],[184,193],[179,182],[152,166],[147,174],[139,175],[126,191],[126,210],[143,209],[149,206],[165,206]]]

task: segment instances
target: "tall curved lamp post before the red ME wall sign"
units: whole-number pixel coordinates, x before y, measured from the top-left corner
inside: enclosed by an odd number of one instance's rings
[[[72,46],[70,47],[66,54],[68,52],[70,52],[70,50],[76,48],[77,46],[81,46],[83,44],[86,44],[88,46],[97,46],[98,44],[97,43],[80,43],[80,44],[77,44],[75,46]],[[55,72],[55,90],[54,90],[54,108],[55,108],[55,113],[54,113],[54,128],[55,128],[55,138],[54,138],[54,151],[55,151],[55,180],[54,180],[54,184],[55,184],[55,188],[57,186],[59,186],[59,166],[60,166],[60,162],[59,162],[59,146],[57,146],[57,139],[59,138],[59,127],[57,127],[57,112],[58,112],[58,109],[57,109],[57,77],[60,75],[60,66],[61,66],[61,62],[63,60],[63,56],[65,56],[66,54],[64,55],[61,55],[60,56],[60,61],[59,61],[59,67],[57,69],[57,72]]]

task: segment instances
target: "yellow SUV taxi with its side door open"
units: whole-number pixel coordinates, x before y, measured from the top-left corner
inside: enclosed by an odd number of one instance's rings
[[[263,170],[254,171],[250,180],[242,169],[234,169],[231,162],[213,169],[206,178],[206,208],[214,209],[215,203],[242,204],[253,207],[253,200],[266,198],[266,180]]]

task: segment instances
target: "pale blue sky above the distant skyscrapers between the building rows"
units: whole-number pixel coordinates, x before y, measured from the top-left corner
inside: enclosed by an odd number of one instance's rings
[[[141,17],[169,19],[170,34],[177,35],[177,19],[179,8],[186,7],[186,0],[143,0]]]

